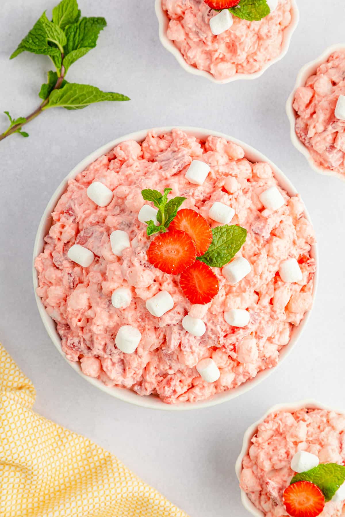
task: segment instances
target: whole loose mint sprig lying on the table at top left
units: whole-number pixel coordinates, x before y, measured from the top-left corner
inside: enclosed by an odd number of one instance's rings
[[[39,97],[42,103],[26,117],[10,120],[10,125],[2,134],[4,140],[13,133],[28,136],[22,126],[36,118],[48,108],[63,107],[67,110],[79,110],[89,104],[102,101],[126,101],[125,95],[114,92],[102,92],[96,86],[68,83],[65,79],[70,66],[87,52],[96,47],[99,33],[107,22],[104,18],[80,18],[77,0],[62,0],[53,8],[52,20],[43,12],[34,27],[23,38],[10,59],[22,52],[32,52],[50,57],[56,71],[48,72],[48,81],[42,84]]]

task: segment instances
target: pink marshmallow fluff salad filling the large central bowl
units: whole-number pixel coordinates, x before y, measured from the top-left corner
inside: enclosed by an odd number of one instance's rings
[[[315,239],[298,195],[289,197],[279,188],[286,204],[275,212],[263,208],[259,195],[277,180],[268,163],[251,163],[244,155],[242,147],[215,136],[201,141],[177,129],[149,132],[141,144],[123,142],[69,180],[35,262],[37,294],[56,322],[67,359],[80,361],[86,375],[174,404],[209,399],[277,365],[280,349],[312,305],[316,264],[309,252]],[[211,167],[202,186],[185,178],[192,159]],[[86,189],[94,180],[113,191],[108,207],[98,207],[88,198]],[[147,261],[152,238],[138,220],[145,203],[141,190],[162,192],[166,187],[173,189],[172,196],[185,196],[182,207],[196,210],[213,227],[219,223],[208,217],[212,204],[232,206],[232,224],[248,231],[238,256],[247,258],[251,272],[232,286],[222,270],[214,268],[220,291],[208,305],[191,305],[179,287],[179,277],[164,274]],[[114,230],[129,235],[131,246],[123,257],[112,253],[109,236]],[[95,253],[88,268],[68,259],[75,243]],[[282,282],[277,272],[288,257],[300,263],[303,280],[298,283]],[[111,303],[112,292],[120,286],[132,293],[130,306],[122,310]],[[157,318],[145,302],[161,290],[171,294],[174,307]],[[246,327],[226,323],[224,311],[232,308],[249,310]],[[203,337],[183,329],[187,313],[205,322]],[[115,346],[122,325],[135,326],[142,334],[133,354]],[[199,360],[209,357],[220,370],[219,380],[211,384],[196,369]]]

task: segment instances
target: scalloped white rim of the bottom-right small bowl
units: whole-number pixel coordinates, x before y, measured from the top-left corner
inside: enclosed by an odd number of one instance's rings
[[[343,409],[335,409],[334,407],[325,406],[324,404],[321,404],[320,402],[317,402],[316,400],[312,399],[306,399],[301,400],[299,402],[290,403],[290,404],[277,404],[276,406],[271,407],[271,409],[268,409],[267,413],[260,418],[257,422],[253,423],[245,432],[243,437],[243,447],[242,451],[239,454],[235,470],[236,475],[239,481],[239,478],[241,477],[242,473],[242,462],[245,455],[248,453],[249,447],[251,445],[251,439],[256,434],[258,430],[258,425],[265,420],[265,418],[268,417],[269,414],[275,412],[275,411],[298,411],[298,409],[302,409],[303,407],[306,407],[307,409],[326,409],[327,411],[335,411],[336,413],[345,414],[345,411]],[[258,510],[256,506],[253,505],[249,497],[247,496],[246,492],[244,490],[241,490],[241,500],[242,504],[245,507],[246,510],[248,510],[249,513],[252,515],[255,515],[255,517],[265,517],[265,514]]]

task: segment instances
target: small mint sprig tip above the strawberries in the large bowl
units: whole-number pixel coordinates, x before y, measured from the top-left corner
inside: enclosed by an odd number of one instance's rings
[[[159,226],[150,220],[146,221],[148,236],[159,232],[166,232],[170,223],[176,217],[178,208],[185,201],[186,197],[173,197],[168,201],[168,194],[172,189],[164,189],[164,193],[161,194],[158,190],[144,189],[141,194],[145,201],[151,201],[156,208],[158,208],[157,221]]]

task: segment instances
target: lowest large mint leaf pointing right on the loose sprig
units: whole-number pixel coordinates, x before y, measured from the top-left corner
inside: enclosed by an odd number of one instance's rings
[[[49,102],[43,110],[48,108],[62,107],[67,110],[81,110],[89,104],[102,101],[124,101],[129,100],[122,94],[113,92],[102,92],[96,86],[88,84],[67,83],[63,88],[53,90],[49,96]]]

